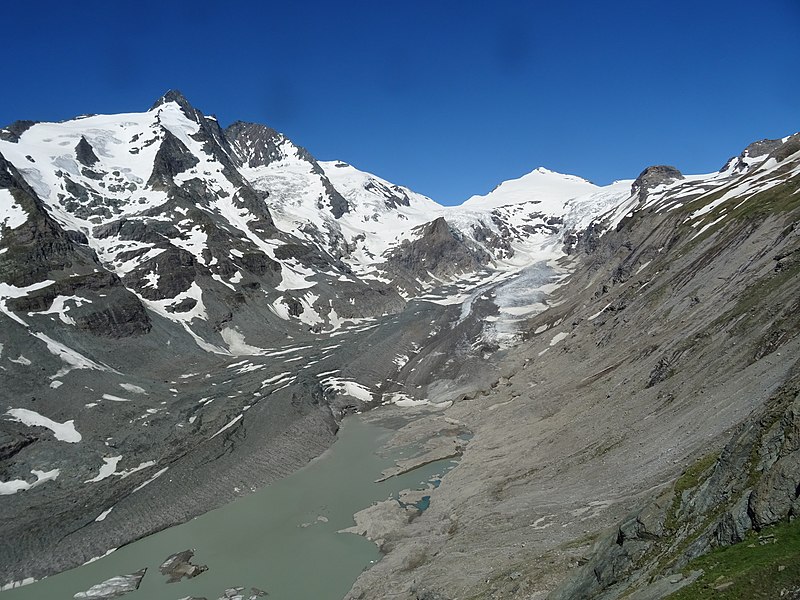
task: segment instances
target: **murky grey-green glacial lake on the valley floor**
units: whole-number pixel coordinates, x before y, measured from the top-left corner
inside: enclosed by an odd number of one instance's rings
[[[0,592],[0,600],[69,600],[144,567],[141,587],[125,600],[216,600],[237,586],[245,598],[255,587],[270,600],[341,600],[380,553],[366,538],[337,531],[353,524],[355,512],[402,489],[424,489],[453,466],[439,461],[374,483],[397,458],[376,454],[392,433],[348,417],[336,443],[289,477],[95,562]],[[192,563],[208,571],[167,584],[158,567],[186,549],[194,549]]]

